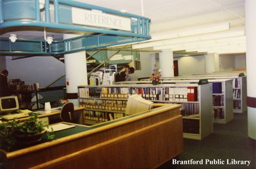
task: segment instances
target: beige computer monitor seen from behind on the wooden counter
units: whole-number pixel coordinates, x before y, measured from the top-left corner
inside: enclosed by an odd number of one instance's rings
[[[126,115],[132,115],[139,112],[150,110],[153,107],[153,102],[143,99],[138,94],[132,94],[129,96],[127,105],[125,108]]]

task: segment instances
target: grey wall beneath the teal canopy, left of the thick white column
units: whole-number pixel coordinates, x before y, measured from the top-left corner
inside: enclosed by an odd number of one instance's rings
[[[40,87],[56,80],[65,73],[65,64],[51,56],[28,57],[13,60],[6,57],[8,78],[19,78],[25,84],[39,83]]]

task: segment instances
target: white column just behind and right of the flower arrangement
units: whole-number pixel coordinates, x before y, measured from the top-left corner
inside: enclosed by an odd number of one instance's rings
[[[159,66],[162,77],[174,77],[172,50],[162,50],[162,52],[159,53]]]

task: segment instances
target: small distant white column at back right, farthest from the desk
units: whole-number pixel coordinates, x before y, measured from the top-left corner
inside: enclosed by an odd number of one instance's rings
[[[219,55],[207,54],[204,55],[204,69],[205,73],[212,73],[220,70]]]

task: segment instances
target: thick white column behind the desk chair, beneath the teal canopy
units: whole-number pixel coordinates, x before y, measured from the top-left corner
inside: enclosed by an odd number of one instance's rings
[[[74,38],[77,35],[64,34],[63,38]],[[66,71],[66,86],[67,99],[69,102],[79,106],[78,101],[78,85],[87,85],[87,66],[86,66],[86,52],[76,52],[73,54],[65,54],[65,71]]]

